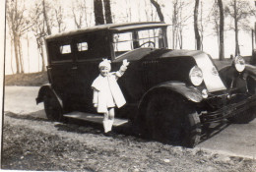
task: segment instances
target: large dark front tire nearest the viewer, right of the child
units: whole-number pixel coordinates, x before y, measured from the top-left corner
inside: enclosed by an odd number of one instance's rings
[[[188,147],[194,147],[200,141],[199,115],[179,96],[154,96],[148,103],[144,119],[146,133],[153,140]]]

